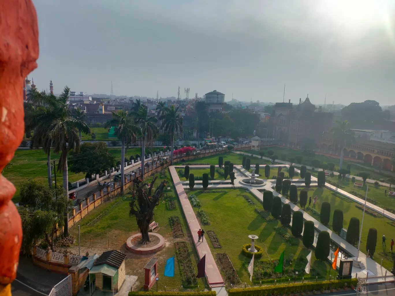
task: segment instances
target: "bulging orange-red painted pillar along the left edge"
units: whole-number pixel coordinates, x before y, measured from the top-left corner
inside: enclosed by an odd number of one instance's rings
[[[23,83],[36,67],[38,26],[31,0],[0,1],[0,173],[23,139]],[[9,295],[18,268],[22,223],[15,187],[0,175],[0,293]]]

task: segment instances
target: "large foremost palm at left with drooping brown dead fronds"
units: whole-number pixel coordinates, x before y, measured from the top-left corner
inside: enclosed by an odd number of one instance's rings
[[[55,114],[55,118],[49,124],[47,135],[53,141],[54,152],[60,152],[58,171],[63,172],[63,188],[66,196],[68,196],[67,155],[71,150],[79,151],[81,144],[79,130],[86,134],[90,133],[90,128],[85,122],[71,116],[67,104],[69,92],[70,88],[65,86],[59,97],[46,97],[46,103],[53,108]],[[64,214],[64,236],[68,236],[68,234],[68,212],[66,211]]]

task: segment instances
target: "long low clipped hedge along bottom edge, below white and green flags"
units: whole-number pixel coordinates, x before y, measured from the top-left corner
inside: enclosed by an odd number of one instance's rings
[[[229,289],[229,296],[265,296],[265,295],[282,295],[288,293],[299,293],[308,291],[319,291],[321,289],[328,290],[330,287],[343,288],[344,284],[348,287],[353,285],[354,287],[358,284],[358,279],[334,279],[332,281],[311,281],[304,283],[291,283],[291,284],[281,284],[281,285],[268,285],[262,287],[250,287],[250,288],[241,288],[241,289]],[[132,293],[132,292],[130,292]],[[148,292],[145,292],[148,293]]]

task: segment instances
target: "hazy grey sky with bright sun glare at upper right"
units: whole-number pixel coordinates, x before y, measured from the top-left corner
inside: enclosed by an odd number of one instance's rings
[[[395,1],[33,2],[39,90],[395,104]]]

